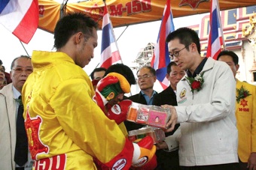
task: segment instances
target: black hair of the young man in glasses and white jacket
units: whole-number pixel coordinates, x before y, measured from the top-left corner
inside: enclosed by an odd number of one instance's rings
[[[166,37],[166,43],[169,43],[169,41],[174,40],[176,38],[178,38],[181,44],[187,46],[187,50],[189,49],[188,46],[190,45],[190,43],[195,43],[197,45],[197,52],[200,54],[200,38],[198,37],[196,31],[187,27],[178,28],[177,30],[172,31],[168,34],[168,36]]]

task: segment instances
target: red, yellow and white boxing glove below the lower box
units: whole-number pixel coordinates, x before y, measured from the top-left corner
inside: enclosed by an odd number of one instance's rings
[[[157,167],[157,157],[155,155],[157,148],[151,136],[146,136],[133,146],[133,169],[150,170]]]

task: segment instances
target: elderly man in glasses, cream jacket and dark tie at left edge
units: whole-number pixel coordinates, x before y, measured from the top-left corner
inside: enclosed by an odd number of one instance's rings
[[[0,91],[0,166],[1,169],[32,169],[24,127],[21,91],[33,72],[31,58],[21,55],[11,63],[12,83]]]

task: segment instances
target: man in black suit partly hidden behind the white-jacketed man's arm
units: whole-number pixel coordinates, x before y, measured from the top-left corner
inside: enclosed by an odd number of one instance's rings
[[[177,106],[176,100],[176,86],[181,78],[185,75],[184,70],[175,64],[175,62],[170,62],[167,66],[166,78],[169,80],[170,85],[164,91],[159,94],[154,95],[153,105],[161,106],[164,104],[169,104],[172,106]],[[177,130],[179,124],[175,125],[175,129],[166,133],[166,136],[172,135],[175,130]],[[163,150],[157,150],[157,169],[156,170],[167,170],[167,169],[178,169],[178,150],[172,152],[166,152]]]

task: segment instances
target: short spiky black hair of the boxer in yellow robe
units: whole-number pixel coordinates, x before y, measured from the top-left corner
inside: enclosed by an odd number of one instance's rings
[[[98,29],[98,23],[84,13],[67,13],[54,28],[54,47],[65,46],[72,35],[82,32],[86,38],[93,35],[93,28]]]

